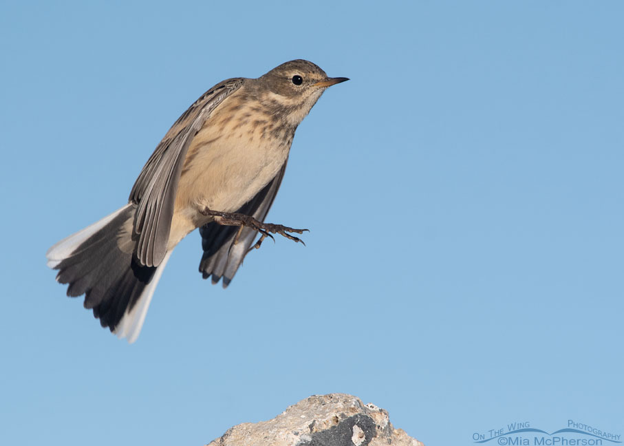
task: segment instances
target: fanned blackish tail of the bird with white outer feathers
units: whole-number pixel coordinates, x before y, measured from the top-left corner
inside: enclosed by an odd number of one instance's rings
[[[69,284],[67,295],[85,295],[103,327],[136,341],[151,297],[169,259],[157,267],[142,266],[133,256],[131,224],[136,206],[127,204],[99,222],[58,242],[47,251],[47,266],[56,280]]]

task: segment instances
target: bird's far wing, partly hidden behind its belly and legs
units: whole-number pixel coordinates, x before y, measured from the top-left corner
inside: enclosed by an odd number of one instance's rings
[[[286,162],[284,162],[277,176],[254,198],[241,206],[237,212],[251,215],[256,220],[263,222],[273,200],[275,200],[277,189],[279,189],[285,171]],[[200,273],[204,279],[208,279],[212,275],[212,282],[216,284],[223,277],[223,287],[226,288],[230,284],[257,235],[257,231],[244,227],[235,244],[234,239],[238,231],[239,227],[237,226],[222,226],[215,222],[210,222],[200,228],[202,248],[204,248],[204,255],[202,262],[200,262]]]

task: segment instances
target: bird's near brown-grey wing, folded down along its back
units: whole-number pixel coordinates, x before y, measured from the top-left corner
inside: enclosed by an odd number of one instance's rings
[[[137,204],[134,233],[140,264],[158,266],[166,253],[177,184],[191,141],[212,111],[241,87],[242,78],[209,89],[175,121],[137,178],[129,202]]]

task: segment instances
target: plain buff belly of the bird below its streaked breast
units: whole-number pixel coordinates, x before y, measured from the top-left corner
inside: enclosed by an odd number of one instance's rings
[[[203,145],[195,145],[202,140],[206,141]],[[178,185],[169,246],[173,248],[188,233],[212,220],[200,209],[240,209],[277,176],[289,149],[290,141],[250,141],[247,135],[236,132],[216,140],[198,134],[189,147],[191,155],[187,155],[189,161]]]

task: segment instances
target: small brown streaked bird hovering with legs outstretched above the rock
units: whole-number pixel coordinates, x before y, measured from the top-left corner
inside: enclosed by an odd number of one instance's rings
[[[69,297],[85,295],[100,325],[133,343],[171,252],[195,229],[200,273],[224,288],[265,237],[301,242],[292,234],[307,230],[264,220],[297,126],[327,87],[348,80],[297,59],[208,89],[166,132],[128,203],[47,251],[56,281]]]

